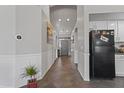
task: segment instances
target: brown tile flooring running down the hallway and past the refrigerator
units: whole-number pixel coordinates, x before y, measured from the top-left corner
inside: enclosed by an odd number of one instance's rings
[[[43,79],[39,88],[124,88],[124,77],[84,81],[70,57],[59,58]],[[26,86],[23,86],[24,88]]]

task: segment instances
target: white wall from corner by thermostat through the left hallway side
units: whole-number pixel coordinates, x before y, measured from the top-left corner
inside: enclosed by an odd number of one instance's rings
[[[38,79],[41,79],[54,63],[53,45],[47,43],[48,6],[17,6],[17,34],[22,34],[22,40],[16,41],[15,86],[26,84],[27,79],[21,78],[26,65],[33,64],[39,69]]]

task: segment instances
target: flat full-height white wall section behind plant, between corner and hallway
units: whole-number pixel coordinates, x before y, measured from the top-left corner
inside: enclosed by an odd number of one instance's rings
[[[41,77],[41,22],[40,6],[16,6],[16,35],[22,39],[16,40],[15,87],[27,83],[21,76],[27,65],[36,65]]]

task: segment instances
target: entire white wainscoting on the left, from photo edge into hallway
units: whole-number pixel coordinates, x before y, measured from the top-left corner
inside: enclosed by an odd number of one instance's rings
[[[39,73],[38,79],[47,73],[55,59],[53,50],[42,54],[0,55],[0,87],[21,87],[27,84],[27,78],[22,78],[24,68],[28,65],[36,65]]]

